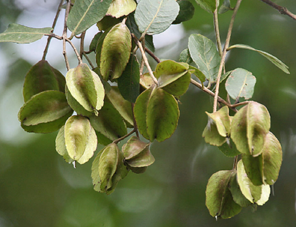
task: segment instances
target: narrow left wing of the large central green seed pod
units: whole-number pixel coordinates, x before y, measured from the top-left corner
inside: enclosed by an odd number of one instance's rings
[[[133,108],[133,113],[135,115],[139,132],[147,140],[149,140],[149,135],[147,132],[146,115],[147,115],[147,107],[148,107],[148,102],[149,102],[151,93],[152,93],[152,88],[146,89],[144,92],[142,92],[138,96]]]

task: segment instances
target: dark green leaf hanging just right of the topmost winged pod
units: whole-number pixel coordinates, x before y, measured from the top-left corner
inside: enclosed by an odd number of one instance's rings
[[[131,53],[128,64],[117,79],[117,83],[121,95],[131,103],[136,102],[140,94],[140,67],[136,55]]]

